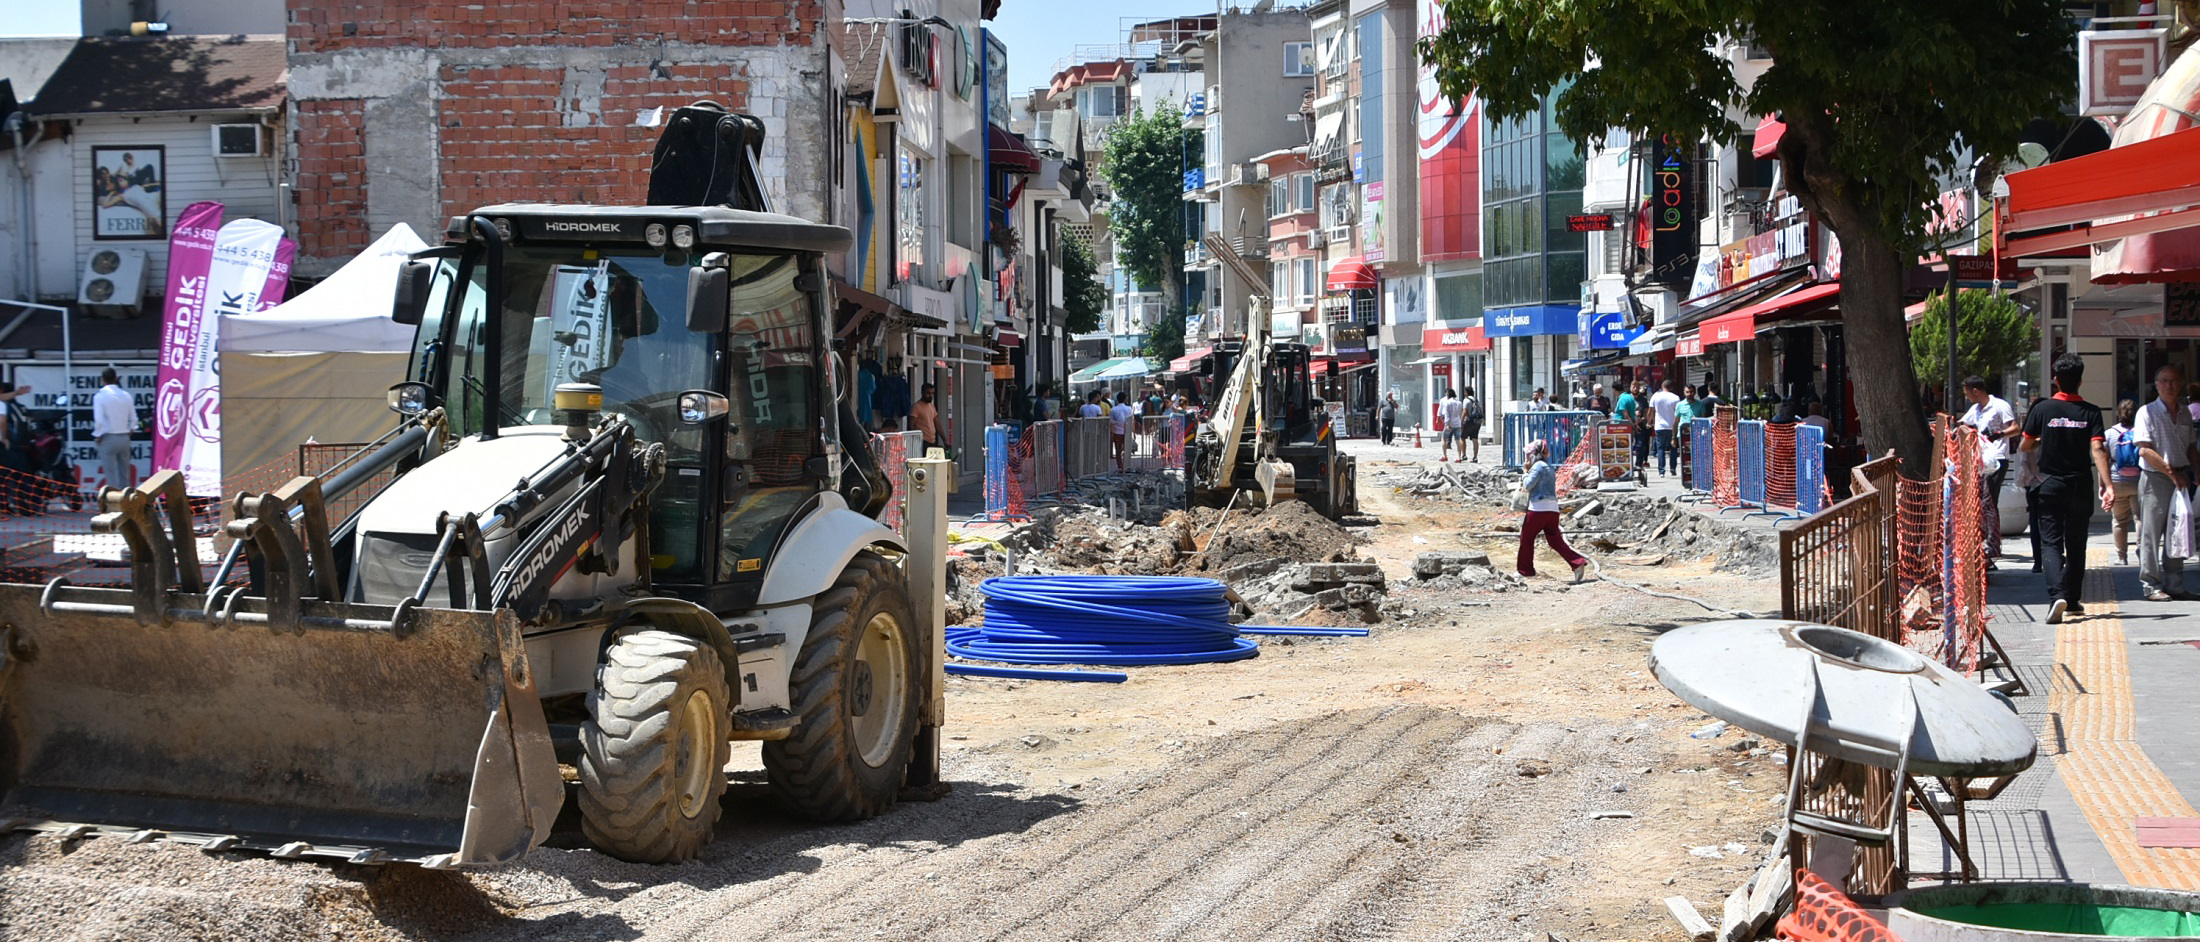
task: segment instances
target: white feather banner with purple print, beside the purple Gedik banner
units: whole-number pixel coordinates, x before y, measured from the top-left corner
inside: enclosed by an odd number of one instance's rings
[[[191,497],[222,495],[222,372],[216,357],[216,337],[220,335],[216,324],[222,315],[257,315],[275,306],[275,299],[264,304],[262,295],[273,282],[282,242],[282,227],[264,220],[229,222],[213,240],[207,299],[200,306],[200,330],[191,346],[189,398],[183,405],[180,467],[185,493]]]

